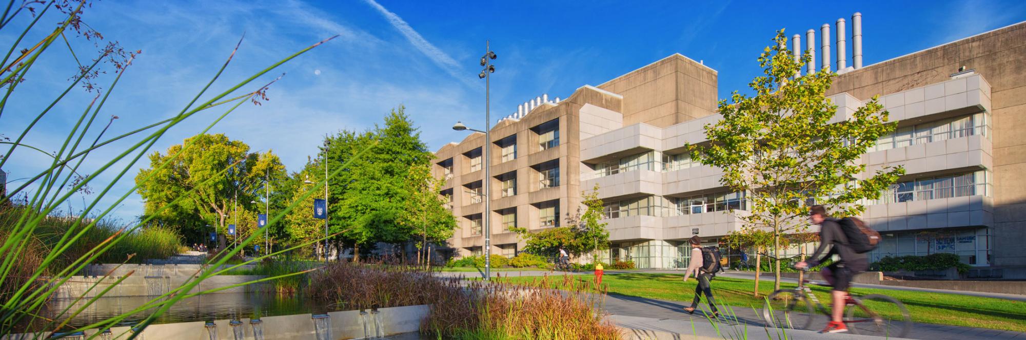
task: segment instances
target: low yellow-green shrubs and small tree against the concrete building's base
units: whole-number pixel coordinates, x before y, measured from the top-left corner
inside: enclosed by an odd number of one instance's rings
[[[584,199],[582,205],[585,209],[582,212],[582,207],[578,207],[577,215],[566,219],[567,226],[538,232],[522,227],[512,227],[510,230],[520,235],[526,244],[524,251],[531,254],[553,256],[560,247],[574,256],[609,249],[609,231],[605,229],[607,223],[600,222],[603,203],[598,198],[598,185],[595,185],[591,194],[582,192],[581,197]],[[598,257],[593,253],[592,258],[597,260]]]

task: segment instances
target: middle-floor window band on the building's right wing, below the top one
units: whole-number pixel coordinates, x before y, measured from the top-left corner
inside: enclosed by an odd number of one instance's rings
[[[896,183],[880,195],[875,204],[924,201],[966,196],[990,196],[990,172],[975,171]]]

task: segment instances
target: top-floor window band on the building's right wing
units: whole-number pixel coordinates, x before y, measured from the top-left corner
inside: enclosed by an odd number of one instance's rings
[[[906,126],[880,136],[876,140],[876,147],[870,147],[869,151],[891,150],[978,134],[989,138],[990,123],[988,119],[987,113],[979,113]]]

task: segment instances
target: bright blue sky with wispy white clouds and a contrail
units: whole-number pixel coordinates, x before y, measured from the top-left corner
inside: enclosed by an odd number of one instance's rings
[[[244,104],[212,130],[253,151],[273,150],[294,170],[317,152],[324,134],[371,128],[399,104],[432,150],[465,137],[450,129],[456,121],[480,128],[484,82],[477,79],[477,61],[486,39],[499,55],[491,82],[492,117],[499,118],[543,93],[565,98],[578,87],[601,84],[672,53],[717,70],[724,97],[758,75],[755,58],[775,30],[785,28],[791,35],[817,29],[819,36],[821,25],[844,17],[851,35],[856,11],[863,14],[865,65],[1026,19],[1022,1],[97,1],[85,22],[108,39],[143,50],[101,114],[121,117],[108,133],[176,114],[243,33],[246,39],[216,89],[340,35],[261,79],[258,83],[286,74],[268,91],[269,101]],[[0,41],[9,45],[13,31],[0,31]],[[80,53],[88,51],[84,42],[75,44]],[[0,117],[0,134],[16,135],[40,102],[67,86],[74,74],[70,53],[65,48],[49,54]],[[109,81],[107,76],[100,83]],[[27,142],[56,151],[58,137],[91,98],[72,91]],[[182,142],[206,126],[212,114],[171,130],[154,150]],[[96,153],[86,167],[98,167],[123,145]],[[4,170],[11,173],[9,179],[29,176],[40,171],[45,158],[17,152]],[[133,176],[134,170],[112,193],[129,192]],[[114,174],[103,174],[97,183],[112,180]],[[72,209],[91,199],[76,196]],[[102,202],[110,204],[113,197]],[[142,211],[141,199],[132,194],[115,215],[131,219]]]

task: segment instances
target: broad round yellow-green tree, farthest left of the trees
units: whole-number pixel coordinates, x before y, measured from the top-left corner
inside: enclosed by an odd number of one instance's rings
[[[165,162],[167,166],[161,168]],[[154,152],[150,168],[141,169],[135,182],[146,201],[145,216],[192,192],[156,219],[174,223],[193,216],[192,225],[216,225],[218,232],[226,236],[233,200],[237,198],[240,210],[254,210],[249,202],[263,197],[266,174],[280,176],[284,169],[270,151],[249,153],[249,145],[224,134],[198,134],[171,145],[165,154]],[[153,178],[144,180],[151,174]]]

